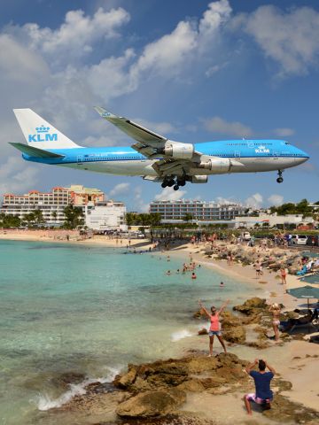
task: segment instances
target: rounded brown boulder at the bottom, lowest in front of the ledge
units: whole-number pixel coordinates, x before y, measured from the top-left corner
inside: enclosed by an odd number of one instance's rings
[[[124,418],[150,418],[166,416],[186,400],[183,390],[146,391],[121,403],[116,413]]]

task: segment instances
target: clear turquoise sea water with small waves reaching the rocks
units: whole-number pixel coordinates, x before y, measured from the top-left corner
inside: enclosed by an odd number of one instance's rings
[[[207,305],[247,298],[249,286],[205,267],[195,281],[176,274],[184,260],[0,241],[0,423],[49,423],[50,409],[85,383],[111,381],[128,363],[178,355],[198,332],[191,319],[198,298]],[[70,373],[78,383],[61,383]]]

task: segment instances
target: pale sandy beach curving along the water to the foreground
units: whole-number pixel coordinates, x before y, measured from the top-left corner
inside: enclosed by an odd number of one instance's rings
[[[69,236],[68,241],[66,235]],[[126,247],[128,240],[116,240],[106,238],[105,236],[94,236],[93,238],[82,240],[77,232],[55,233],[47,231],[35,232],[0,232],[0,239],[10,240],[28,240],[28,241],[41,241],[41,242],[63,242],[63,243],[81,243],[81,244],[94,244],[98,246],[121,248]],[[224,243],[221,243],[224,244]],[[152,244],[147,240],[132,239],[130,246],[136,249],[148,250]],[[268,269],[263,270],[261,278],[256,278],[255,269],[253,266],[242,266],[241,264],[234,263],[229,265],[226,260],[218,260],[214,258],[207,258],[204,256],[205,244],[194,245],[191,243],[178,246],[178,248],[169,251],[169,255],[181,260],[181,267],[183,262],[195,261],[201,267],[207,267],[212,270],[212,273],[218,271],[225,274],[228,279],[234,277],[237,281],[248,283],[252,287],[252,297],[266,298],[268,305],[276,302],[284,305],[283,311],[291,311],[295,308],[304,308],[304,301],[301,299],[293,298],[286,293],[286,289],[304,286],[300,279],[292,274],[287,275],[286,287],[281,284],[280,276],[276,271]],[[248,248],[245,247],[248,250]],[[157,251],[156,255],[167,256],[167,251]],[[196,284],[196,283],[195,283]],[[236,304],[236,300],[232,300],[232,304]],[[247,335],[253,335],[253,328],[247,327],[249,332]],[[268,335],[273,335],[272,328],[268,328]],[[248,338],[249,339],[249,338]],[[228,350],[236,354],[240,359],[252,361],[255,358],[267,359],[276,369],[276,373],[285,381],[292,383],[290,390],[281,392],[284,397],[292,402],[300,403],[306,408],[316,409],[318,406],[318,393],[319,383],[317,378],[317,368],[319,364],[319,350],[317,344],[309,344],[306,339],[292,339],[280,340],[276,343],[272,339],[268,339],[267,346],[263,349],[258,347],[241,345],[241,344],[228,344]],[[207,336],[191,336],[185,339],[184,351],[189,352],[196,347],[198,352],[207,352]],[[214,349],[221,352],[222,347],[218,342],[214,343]],[[253,390],[253,380],[251,383],[251,390]],[[276,398],[276,386],[273,386]],[[231,392],[225,391],[221,394],[212,394],[209,392],[188,392],[186,402],[183,405],[183,411],[194,413],[198,418],[212,420],[214,423],[226,425],[229,423],[276,423],[260,413],[253,413],[252,421],[248,421],[247,414],[243,408],[243,391],[238,386],[237,390]],[[279,423],[278,421],[277,423]],[[89,422],[88,422],[89,423]],[[311,423],[311,422],[308,422]],[[314,422],[315,423],[315,422]]]

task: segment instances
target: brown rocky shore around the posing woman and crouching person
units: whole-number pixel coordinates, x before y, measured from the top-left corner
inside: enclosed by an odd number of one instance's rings
[[[233,310],[236,313],[227,311],[222,314],[226,341],[230,345],[246,344],[257,349],[268,347],[271,321],[266,300],[251,298],[243,305],[235,305]],[[293,312],[286,314],[292,315]],[[201,320],[202,312],[194,313],[193,317]],[[252,325],[257,336],[254,344],[245,339],[246,328]],[[292,336],[284,337],[286,342],[291,339]],[[247,360],[230,352],[208,358],[206,353],[198,350],[188,352],[181,359],[129,364],[128,370],[117,375],[113,383],[90,383],[85,394],[75,396],[54,411],[58,414],[76,413],[79,424],[219,424],[223,422],[209,414],[194,413],[190,400],[207,398],[214,404],[218,396],[232,395],[241,406],[243,395],[253,390],[252,379],[245,373],[247,364]],[[262,421],[258,423],[318,423],[318,411],[283,394],[292,390],[292,383],[277,374],[272,388],[275,393],[272,408],[259,410]],[[83,415],[90,420],[82,421]],[[237,423],[246,422],[238,420]]]

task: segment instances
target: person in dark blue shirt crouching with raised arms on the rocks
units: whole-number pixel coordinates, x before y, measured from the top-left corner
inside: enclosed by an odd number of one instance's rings
[[[258,364],[259,372],[253,370]],[[268,367],[269,372],[266,372]],[[248,414],[252,414],[251,401],[264,407],[264,409],[270,409],[270,402],[273,398],[273,392],[270,390],[270,381],[275,375],[275,369],[267,364],[265,360],[255,359],[251,365],[245,368],[248,375],[252,376],[255,384],[255,393],[245,394],[244,402]]]

